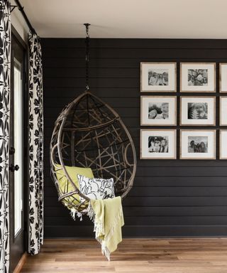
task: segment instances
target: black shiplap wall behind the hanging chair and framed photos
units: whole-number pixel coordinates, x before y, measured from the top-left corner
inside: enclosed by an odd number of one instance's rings
[[[49,164],[55,119],[62,107],[84,91],[84,39],[43,38],[42,45],[45,237],[93,237],[88,219],[74,222],[69,211],[57,202]],[[179,97],[179,62],[227,62],[227,40],[92,39],[90,54],[91,91],[121,115],[138,154],[134,187],[123,202],[126,222],[123,234],[130,237],[227,235],[227,161],[179,160],[179,151],[177,160],[139,159],[140,62],[177,62],[176,95]],[[216,113],[218,125],[218,107]],[[177,141],[179,147],[179,132]]]

